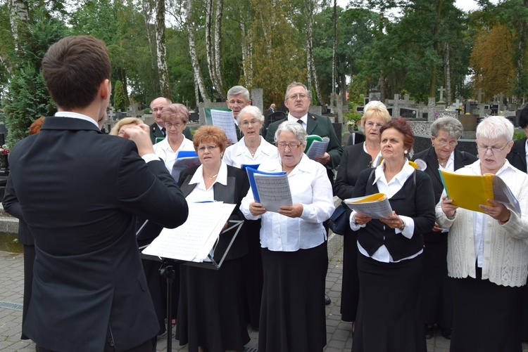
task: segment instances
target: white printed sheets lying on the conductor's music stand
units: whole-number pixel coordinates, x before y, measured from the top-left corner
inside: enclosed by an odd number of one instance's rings
[[[200,263],[207,259],[234,207],[222,202],[189,203],[187,221],[177,228],[163,228],[142,253]]]

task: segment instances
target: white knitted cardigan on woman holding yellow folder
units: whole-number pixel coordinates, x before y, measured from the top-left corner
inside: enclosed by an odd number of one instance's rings
[[[510,220],[501,225],[486,215],[482,279],[497,285],[520,287],[528,275],[528,175],[511,166],[508,160],[499,176],[519,201],[522,216],[511,211]],[[457,174],[480,174],[480,161],[455,171]],[[477,173],[478,172],[478,173]],[[444,190],[444,194],[446,191]],[[448,219],[436,204],[436,222],[450,228],[448,234],[447,266],[451,278],[476,278],[473,235],[473,211],[458,208]]]

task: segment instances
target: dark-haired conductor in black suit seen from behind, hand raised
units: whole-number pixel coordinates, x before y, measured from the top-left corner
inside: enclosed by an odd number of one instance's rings
[[[148,126],[101,133],[111,96],[103,41],[65,37],[42,60],[58,112],[11,151],[13,188],[34,237],[23,333],[37,351],[156,351],[158,320],[134,215],[180,226],[187,203],[153,152]]]

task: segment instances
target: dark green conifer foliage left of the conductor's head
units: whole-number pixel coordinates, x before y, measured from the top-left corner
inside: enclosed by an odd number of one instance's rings
[[[56,110],[44,84],[41,62],[47,48],[68,31],[44,7],[34,8],[31,15],[27,30],[19,33],[20,50],[12,56],[15,72],[2,99],[8,145],[27,136],[35,119],[52,115]]]

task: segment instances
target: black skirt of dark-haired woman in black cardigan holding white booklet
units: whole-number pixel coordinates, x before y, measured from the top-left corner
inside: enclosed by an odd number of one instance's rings
[[[358,254],[359,305],[353,352],[425,352],[420,313],[422,256],[382,263]]]

